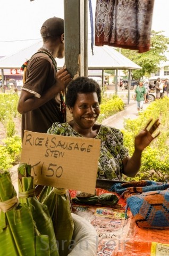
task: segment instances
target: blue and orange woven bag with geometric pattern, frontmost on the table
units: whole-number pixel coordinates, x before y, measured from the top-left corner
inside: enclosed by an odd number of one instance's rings
[[[169,228],[169,189],[128,194],[126,203],[139,228]]]

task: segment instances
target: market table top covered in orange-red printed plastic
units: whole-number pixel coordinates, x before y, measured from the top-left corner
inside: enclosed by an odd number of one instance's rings
[[[105,183],[108,187],[109,182]],[[97,196],[112,193],[101,188],[97,188],[96,192]],[[70,190],[71,197],[75,197],[76,193],[77,191]],[[169,230],[139,228],[129,210],[128,218],[125,219],[126,204],[122,197],[119,198],[119,202],[113,207],[73,204],[76,213],[89,221],[97,231],[97,256],[169,255]]]

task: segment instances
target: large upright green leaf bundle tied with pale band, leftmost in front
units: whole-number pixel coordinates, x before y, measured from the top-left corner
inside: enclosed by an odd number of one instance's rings
[[[20,204],[9,172],[0,172],[0,255],[49,256],[26,204]]]

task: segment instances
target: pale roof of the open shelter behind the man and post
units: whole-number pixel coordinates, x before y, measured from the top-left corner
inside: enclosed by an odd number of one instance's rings
[[[42,41],[30,45],[19,52],[13,53],[0,59],[1,69],[20,68],[41,46]],[[64,65],[64,59],[57,59],[57,67]],[[88,47],[88,69],[141,69],[133,61],[124,57],[123,54],[110,46],[95,46],[94,55]]]

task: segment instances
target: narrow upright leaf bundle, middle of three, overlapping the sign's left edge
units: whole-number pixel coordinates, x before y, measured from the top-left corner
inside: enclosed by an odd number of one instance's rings
[[[58,256],[58,249],[53,228],[52,219],[46,205],[41,204],[35,196],[35,188],[33,187],[33,177],[31,177],[31,165],[21,163],[18,167],[18,188],[19,201],[22,204],[27,204],[35,221],[37,230],[40,235],[46,235],[49,239],[49,244],[41,238],[39,241],[46,250],[50,251],[51,256]],[[43,249],[45,250],[45,249]],[[29,254],[31,255],[31,254]]]

